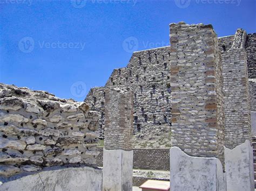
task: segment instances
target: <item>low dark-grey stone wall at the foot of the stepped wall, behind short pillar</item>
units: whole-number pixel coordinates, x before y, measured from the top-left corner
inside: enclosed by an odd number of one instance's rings
[[[97,165],[103,166],[103,148],[98,148]],[[169,148],[134,148],[133,168],[170,171]]]

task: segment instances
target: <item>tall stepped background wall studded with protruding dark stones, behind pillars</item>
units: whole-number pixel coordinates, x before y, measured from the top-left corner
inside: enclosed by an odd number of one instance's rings
[[[255,71],[255,33],[248,34],[246,53],[249,76]],[[220,37],[221,53],[231,48],[233,36]],[[105,87],[92,88],[85,101],[99,112],[98,131],[104,138],[104,91],[120,84],[134,92],[134,147],[170,147],[171,108],[170,103],[170,47],[160,47],[134,52],[126,68],[114,69]],[[255,73],[255,72],[254,72]],[[253,89],[253,87],[251,87]],[[252,95],[255,94],[255,91]],[[254,96],[255,97],[255,96]],[[251,98],[251,105],[255,98]]]

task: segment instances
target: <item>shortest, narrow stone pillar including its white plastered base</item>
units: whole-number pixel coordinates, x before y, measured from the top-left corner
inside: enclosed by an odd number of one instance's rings
[[[105,91],[103,191],[132,190],[133,93],[125,88]]]

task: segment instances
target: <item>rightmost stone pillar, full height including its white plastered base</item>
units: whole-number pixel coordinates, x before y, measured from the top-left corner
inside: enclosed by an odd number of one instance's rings
[[[254,190],[250,94],[245,51],[246,32],[238,29],[232,47],[222,54],[225,108],[227,190]]]

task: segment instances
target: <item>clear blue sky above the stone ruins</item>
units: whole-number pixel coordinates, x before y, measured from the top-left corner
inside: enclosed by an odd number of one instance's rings
[[[169,45],[169,24],[256,32],[255,0],[0,0],[0,82],[83,101],[132,51]]]

